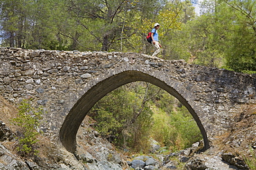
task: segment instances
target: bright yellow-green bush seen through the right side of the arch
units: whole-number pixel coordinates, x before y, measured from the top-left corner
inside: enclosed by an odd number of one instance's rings
[[[176,111],[165,112],[155,108],[153,138],[173,151],[191,147],[202,139],[201,131],[188,110],[182,106]]]

